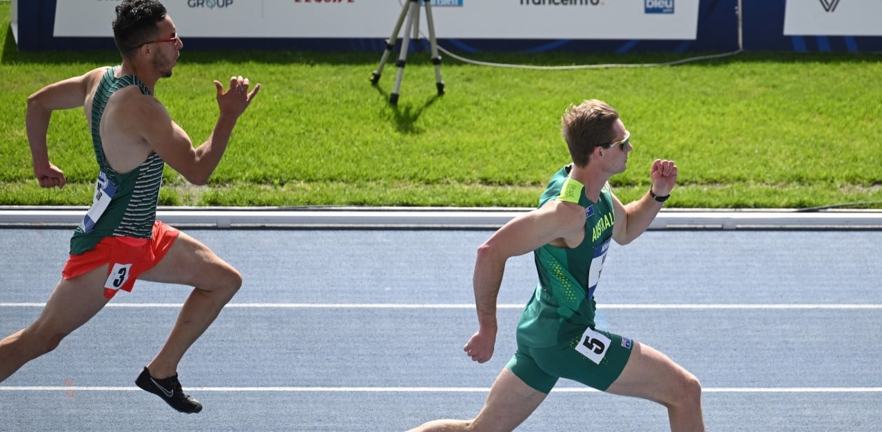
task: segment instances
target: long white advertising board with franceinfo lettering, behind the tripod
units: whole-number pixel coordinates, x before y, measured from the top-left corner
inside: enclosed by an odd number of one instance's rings
[[[183,37],[388,38],[406,0],[166,0]],[[119,0],[59,0],[56,37],[112,37]],[[432,0],[439,38],[694,40],[699,0]],[[420,28],[425,31],[425,13]]]

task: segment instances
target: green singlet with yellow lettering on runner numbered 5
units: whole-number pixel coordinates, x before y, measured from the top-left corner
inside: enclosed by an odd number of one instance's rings
[[[572,165],[555,173],[539,200],[576,202],[585,210],[585,239],[573,248],[543,245],[534,251],[539,283],[518,323],[518,343],[546,348],[570,343],[594,327],[594,289],[606,258],[615,222],[612,195],[604,186],[600,200],[585,196],[585,186],[570,179]]]

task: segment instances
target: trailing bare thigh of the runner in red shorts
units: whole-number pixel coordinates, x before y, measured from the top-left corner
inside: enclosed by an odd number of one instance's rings
[[[62,279],[29,329],[49,337],[64,337],[86,324],[108,303],[104,297],[107,278],[108,266],[105,264],[83,275]]]

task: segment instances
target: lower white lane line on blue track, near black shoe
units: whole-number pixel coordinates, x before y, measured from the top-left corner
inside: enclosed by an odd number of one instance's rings
[[[136,392],[138,387],[0,385],[0,392]],[[490,387],[187,387],[187,392],[490,392]],[[598,392],[590,387],[558,387],[552,392]],[[708,387],[706,393],[880,393],[882,387]]]

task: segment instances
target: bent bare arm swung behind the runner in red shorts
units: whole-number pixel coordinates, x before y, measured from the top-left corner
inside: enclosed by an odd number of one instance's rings
[[[49,119],[52,112],[61,109],[88,106],[95,86],[107,67],[90,70],[79,77],[71,77],[49,84],[27,98],[25,124],[27,141],[31,147],[31,159],[34,164],[34,176],[41,187],[64,187],[67,179],[56,165],[49,162],[49,149],[46,134],[49,131]],[[88,116],[86,109],[86,116]]]

